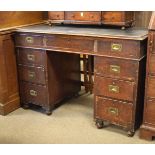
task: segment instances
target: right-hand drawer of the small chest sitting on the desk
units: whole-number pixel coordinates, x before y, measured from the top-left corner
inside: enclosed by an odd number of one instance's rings
[[[102,11],[102,22],[124,22],[124,12],[122,11]]]

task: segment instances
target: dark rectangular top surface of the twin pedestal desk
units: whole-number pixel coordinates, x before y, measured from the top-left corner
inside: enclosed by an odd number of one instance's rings
[[[101,38],[118,38],[130,40],[144,40],[148,36],[148,30],[143,28],[126,28],[125,30],[103,27],[67,26],[45,24],[26,26],[15,29],[16,32],[61,34]]]

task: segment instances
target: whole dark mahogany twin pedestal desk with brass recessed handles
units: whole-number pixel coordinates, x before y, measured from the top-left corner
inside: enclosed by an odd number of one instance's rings
[[[133,136],[142,121],[147,30],[33,25],[15,33],[20,97],[47,114],[80,91],[80,54],[94,56],[94,118]]]

